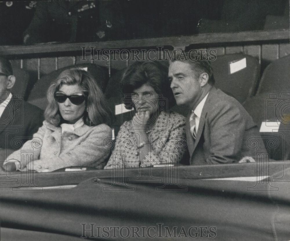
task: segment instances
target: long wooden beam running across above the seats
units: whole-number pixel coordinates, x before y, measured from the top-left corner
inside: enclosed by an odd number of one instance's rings
[[[186,47],[191,44],[221,44],[235,42],[289,41],[289,30],[268,30],[235,33],[206,33],[192,36],[164,37],[152,39],[129,39],[90,43],[35,44],[30,46],[0,46],[0,55],[33,55],[44,53],[81,52],[81,46],[95,49],[130,49],[156,46]]]

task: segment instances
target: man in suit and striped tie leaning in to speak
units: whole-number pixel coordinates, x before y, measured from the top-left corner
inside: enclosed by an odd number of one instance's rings
[[[238,162],[255,158],[247,141],[259,139],[252,117],[233,97],[216,89],[209,61],[193,56],[170,62],[168,77],[177,105],[190,109],[186,139],[191,165]],[[195,56],[196,58],[196,56]],[[261,141],[260,141],[261,142]],[[263,143],[259,143],[263,149]]]

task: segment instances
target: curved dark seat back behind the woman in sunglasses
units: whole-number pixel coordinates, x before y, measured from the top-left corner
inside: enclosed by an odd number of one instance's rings
[[[50,83],[55,80],[63,70],[70,68],[83,68],[84,70],[87,70],[95,77],[97,84],[102,89],[102,91],[104,92],[106,89],[106,85],[109,79],[108,69],[106,67],[98,66],[96,64],[77,64],[55,70],[48,75],[41,77],[31,90],[28,97],[28,102],[38,106],[41,109],[45,109],[47,106],[46,91],[50,86]]]

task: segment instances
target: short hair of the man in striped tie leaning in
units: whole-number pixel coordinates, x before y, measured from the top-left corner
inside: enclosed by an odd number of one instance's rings
[[[209,75],[208,83],[210,85],[215,84],[215,79],[213,77],[213,68],[211,67],[211,62],[209,60],[202,60],[200,50],[194,50],[185,52],[183,50],[177,49],[176,55],[171,62],[181,61],[190,64],[191,69],[194,70],[196,78],[198,78],[202,73],[207,73]],[[207,59],[207,56],[204,56]]]

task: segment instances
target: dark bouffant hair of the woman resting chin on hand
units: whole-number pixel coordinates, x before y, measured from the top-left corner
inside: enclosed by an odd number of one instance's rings
[[[165,64],[158,61],[136,61],[129,66],[122,78],[123,93],[131,94],[144,84],[149,84],[157,94],[167,99],[168,109],[176,103],[168,81],[168,67]]]

